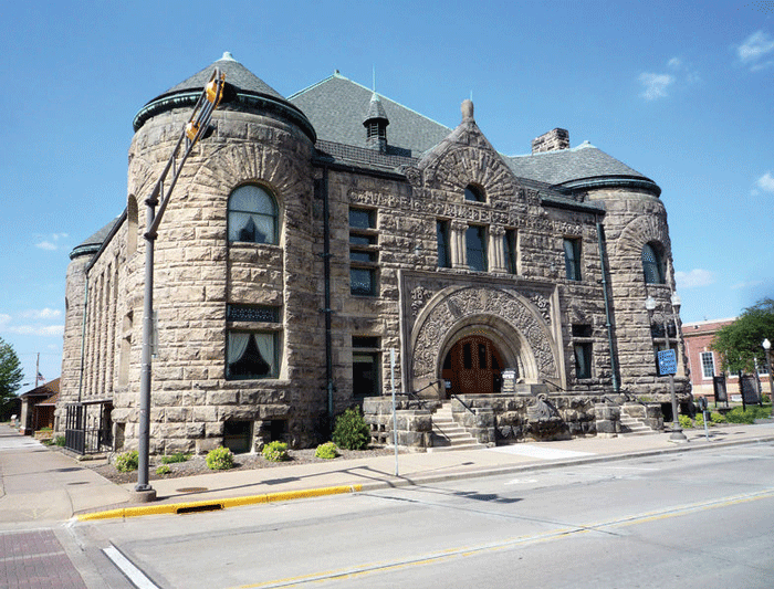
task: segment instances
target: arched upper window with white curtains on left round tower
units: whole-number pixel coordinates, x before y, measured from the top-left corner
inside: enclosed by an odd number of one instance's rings
[[[229,241],[276,243],[276,202],[255,185],[240,186],[229,198]]]

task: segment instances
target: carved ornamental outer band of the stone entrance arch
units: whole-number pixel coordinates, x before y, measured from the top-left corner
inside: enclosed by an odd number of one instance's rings
[[[521,333],[535,358],[537,376],[556,378],[547,326],[535,317],[529,306],[515,295],[488,286],[471,286],[454,291],[433,304],[415,326],[412,376],[435,378],[441,347],[451,329],[463,317],[489,315]]]

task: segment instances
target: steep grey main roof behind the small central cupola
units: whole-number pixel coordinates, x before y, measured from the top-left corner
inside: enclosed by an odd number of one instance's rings
[[[363,119],[370,106],[374,91],[347,80],[336,72],[287,99],[301,108],[317,132],[317,138],[336,144],[366,147]],[[387,143],[418,157],[451,133],[449,127],[379,96],[389,120]]]

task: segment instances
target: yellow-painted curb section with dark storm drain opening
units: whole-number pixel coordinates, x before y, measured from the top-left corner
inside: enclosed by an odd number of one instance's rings
[[[212,509],[226,509],[227,507],[240,507],[255,503],[272,503],[278,501],[303,499],[308,497],[322,497],[324,495],[341,495],[344,493],[357,493],[363,485],[325,486],[320,488],[306,488],[302,491],[282,491],[279,493],[265,493],[263,495],[250,495],[247,497],[231,497],[226,499],[191,501],[187,503],[166,503],[159,505],[143,505],[137,507],[122,507],[107,512],[94,512],[75,516],[79,522],[94,522],[96,519],[114,519],[117,517],[138,517],[142,515],[177,514],[180,511],[196,512]]]

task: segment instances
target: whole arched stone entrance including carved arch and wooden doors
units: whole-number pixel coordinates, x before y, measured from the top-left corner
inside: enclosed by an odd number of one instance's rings
[[[440,379],[449,380],[451,389],[447,382],[436,388],[441,398],[449,392],[500,392],[495,377],[505,368],[527,383],[558,379],[548,302],[536,301],[540,306],[520,293],[490,286],[452,286],[437,293],[411,330],[411,389],[428,390]]]

